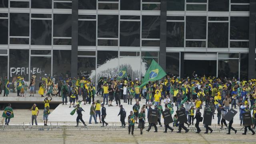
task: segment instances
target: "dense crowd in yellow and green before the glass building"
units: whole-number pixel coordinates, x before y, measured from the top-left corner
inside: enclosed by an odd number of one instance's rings
[[[31,88],[33,82],[34,80],[32,78],[29,86],[30,92],[34,90],[34,88]],[[20,78],[19,84],[20,83],[22,85],[22,78]],[[48,95],[48,97],[53,95],[52,86],[54,84],[56,84],[56,79],[54,77],[47,77],[46,75],[42,78],[38,93],[42,97],[44,97],[45,94]],[[224,119],[225,114],[230,108],[237,109],[239,112],[241,126],[243,124],[242,114],[245,112],[250,112],[253,120],[253,128],[256,126],[256,79],[246,81],[235,78],[217,78],[214,76],[199,77],[193,73],[191,77],[187,78],[166,76],[161,80],[149,82],[146,86],[140,85],[141,81],[138,80],[138,78],[133,81],[130,77],[121,80],[104,77],[98,80],[97,88],[95,88],[95,84],[89,78],[80,76],[70,78],[67,76],[66,79],[58,81],[59,92],[56,96],[62,97],[63,105],[68,103],[67,97],[69,97],[69,107],[71,108],[73,105],[78,114],[77,122],[81,120],[84,125],[86,124],[82,120],[83,109],[80,106],[81,102],[82,104],[92,104],[90,108],[89,124],[91,124],[92,118],[94,118],[97,124],[97,117],[99,117],[100,123],[102,123],[103,126],[104,124],[108,125],[108,123],[104,121],[106,117],[106,107],[104,106],[113,106],[116,104],[116,106],[120,108],[118,116],[120,115],[120,121],[123,127],[126,126],[126,111],[121,103],[134,104],[128,116],[129,134],[131,129],[133,134],[134,124],[137,123],[142,134],[146,117],[149,117],[149,110],[153,107],[153,109],[158,110],[158,124],[160,126],[162,126],[160,120],[162,111],[170,110],[170,114],[174,114],[174,106],[177,107],[177,110],[184,111],[188,119],[187,122],[181,122],[177,114],[173,116],[174,122],[172,126],[178,126],[178,132],[181,132],[182,128],[185,132],[188,132],[184,123],[188,126],[191,124],[194,125],[194,120],[196,119],[195,127],[197,128],[197,133],[200,133],[199,123],[202,122],[202,116],[204,117],[204,113],[207,111],[212,112],[213,119],[217,116],[218,125],[221,126],[221,128],[228,128],[228,134],[230,134],[230,130],[234,130],[234,128],[232,128],[233,120],[229,122],[228,126]],[[22,89],[20,93],[22,94]],[[94,97],[97,95],[102,96],[102,102],[94,100]],[[79,101],[79,98],[82,99],[82,101]],[[133,101],[133,99],[135,100]],[[146,103],[142,104],[140,108],[141,99],[146,99]],[[113,101],[115,101],[115,104],[112,103]],[[47,99],[44,102],[46,104],[47,102],[49,103],[50,100]],[[162,104],[164,108],[162,108]],[[202,110],[203,104],[204,110]],[[47,106],[45,106],[45,109],[47,113],[49,108],[47,109]],[[32,115],[35,117],[38,113],[33,113],[33,111],[36,111],[36,106],[32,107]],[[202,116],[200,111],[203,112]],[[47,125],[48,117],[45,119],[45,124]],[[152,126],[154,126],[155,132],[157,132],[156,124],[150,123],[147,131],[149,131]],[[173,131],[173,128],[171,128],[169,124],[164,124],[164,126],[164,132],[167,132],[167,129]],[[205,133],[208,133],[208,130],[212,133],[213,130],[208,125],[204,126],[206,128]],[[246,134],[247,128],[252,131],[252,134],[255,134],[251,126],[246,126],[243,134]],[[234,131],[236,133],[236,130]]]

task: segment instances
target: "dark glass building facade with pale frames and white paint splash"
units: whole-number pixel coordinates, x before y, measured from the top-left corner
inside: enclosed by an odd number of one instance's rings
[[[152,59],[161,62],[164,26],[166,73],[248,78],[250,0],[78,0],[77,28],[72,3],[0,0],[1,77],[71,75],[77,64],[77,73],[93,80],[114,77],[124,66],[140,79]]]

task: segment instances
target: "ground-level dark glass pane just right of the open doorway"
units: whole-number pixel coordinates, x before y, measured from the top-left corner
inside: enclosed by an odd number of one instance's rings
[[[238,78],[239,60],[218,60],[218,77]]]

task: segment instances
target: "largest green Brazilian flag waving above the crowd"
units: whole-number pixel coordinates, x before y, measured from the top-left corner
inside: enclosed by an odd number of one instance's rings
[[[146,71],[144,75],[144,79],[142,81],[142,84],[140,85],[140,88],[148,84],[148,82],[152,82],[155,80],[160,80],[166,76],[166,72],[159,66],[159,64],[153,59],[148,70]]]

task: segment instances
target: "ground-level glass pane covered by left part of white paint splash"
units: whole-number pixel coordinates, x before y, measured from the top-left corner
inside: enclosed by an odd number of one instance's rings
[[[118,68],[118,51],[98,51],[97,52],[97,78],[117,76]],[[95,73],[92,73],[94,76]]]

